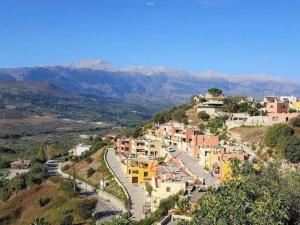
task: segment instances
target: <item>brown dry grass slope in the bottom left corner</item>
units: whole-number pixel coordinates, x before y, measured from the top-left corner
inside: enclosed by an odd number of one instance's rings
[[[38,203],[41,197],[49,197],[51,201],[41,207]],[[46,181],[39,186],[20,191],[6,203],[2,203],[0,205],[0,224],[27,225],[37,217],[44,217],[51,224],[59,224],[68,209],[73,210],[75,224],[87,224],[91,221],[81,219],[74,208],[75,203],[82,200],[84,199],[60,190],[58,183]]]

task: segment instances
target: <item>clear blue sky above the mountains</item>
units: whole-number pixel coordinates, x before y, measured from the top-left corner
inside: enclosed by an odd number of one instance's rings
[[[104,59],[299,79],[299,0],[1,0],[0,67]]]

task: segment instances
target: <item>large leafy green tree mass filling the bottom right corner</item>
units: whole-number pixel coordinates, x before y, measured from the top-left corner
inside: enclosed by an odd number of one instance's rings
[[[299,169],[284,172],[268,165],[257,170],[252,165],[242,171],[236,174],[239,179],[209,189],[199,199],[191,223],[181,224],[299,224]]]

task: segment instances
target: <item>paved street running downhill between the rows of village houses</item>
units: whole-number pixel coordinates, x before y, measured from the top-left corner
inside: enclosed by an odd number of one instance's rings
[[[190,156],[186,152],[182,152],[177,150],[176,152],[171,153],[174,157],[181,160],[183,164],[189,168],[189,170],[199,178],[205,178],[206,185],[217,185],[219,184],[219,180],[213,176],[211,176],[208,172],[204,170],[202,166],[199,164],[199,159],[196,159]]]

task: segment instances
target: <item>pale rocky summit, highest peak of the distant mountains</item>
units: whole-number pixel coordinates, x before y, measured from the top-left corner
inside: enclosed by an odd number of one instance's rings
[[[116,71],[117,68],[104,60],[81,60],[77,62],[70,63],[66,65],[71,68],[81,68],[81,69],[94,69],[94,70],[105,70],[105,71]]]

